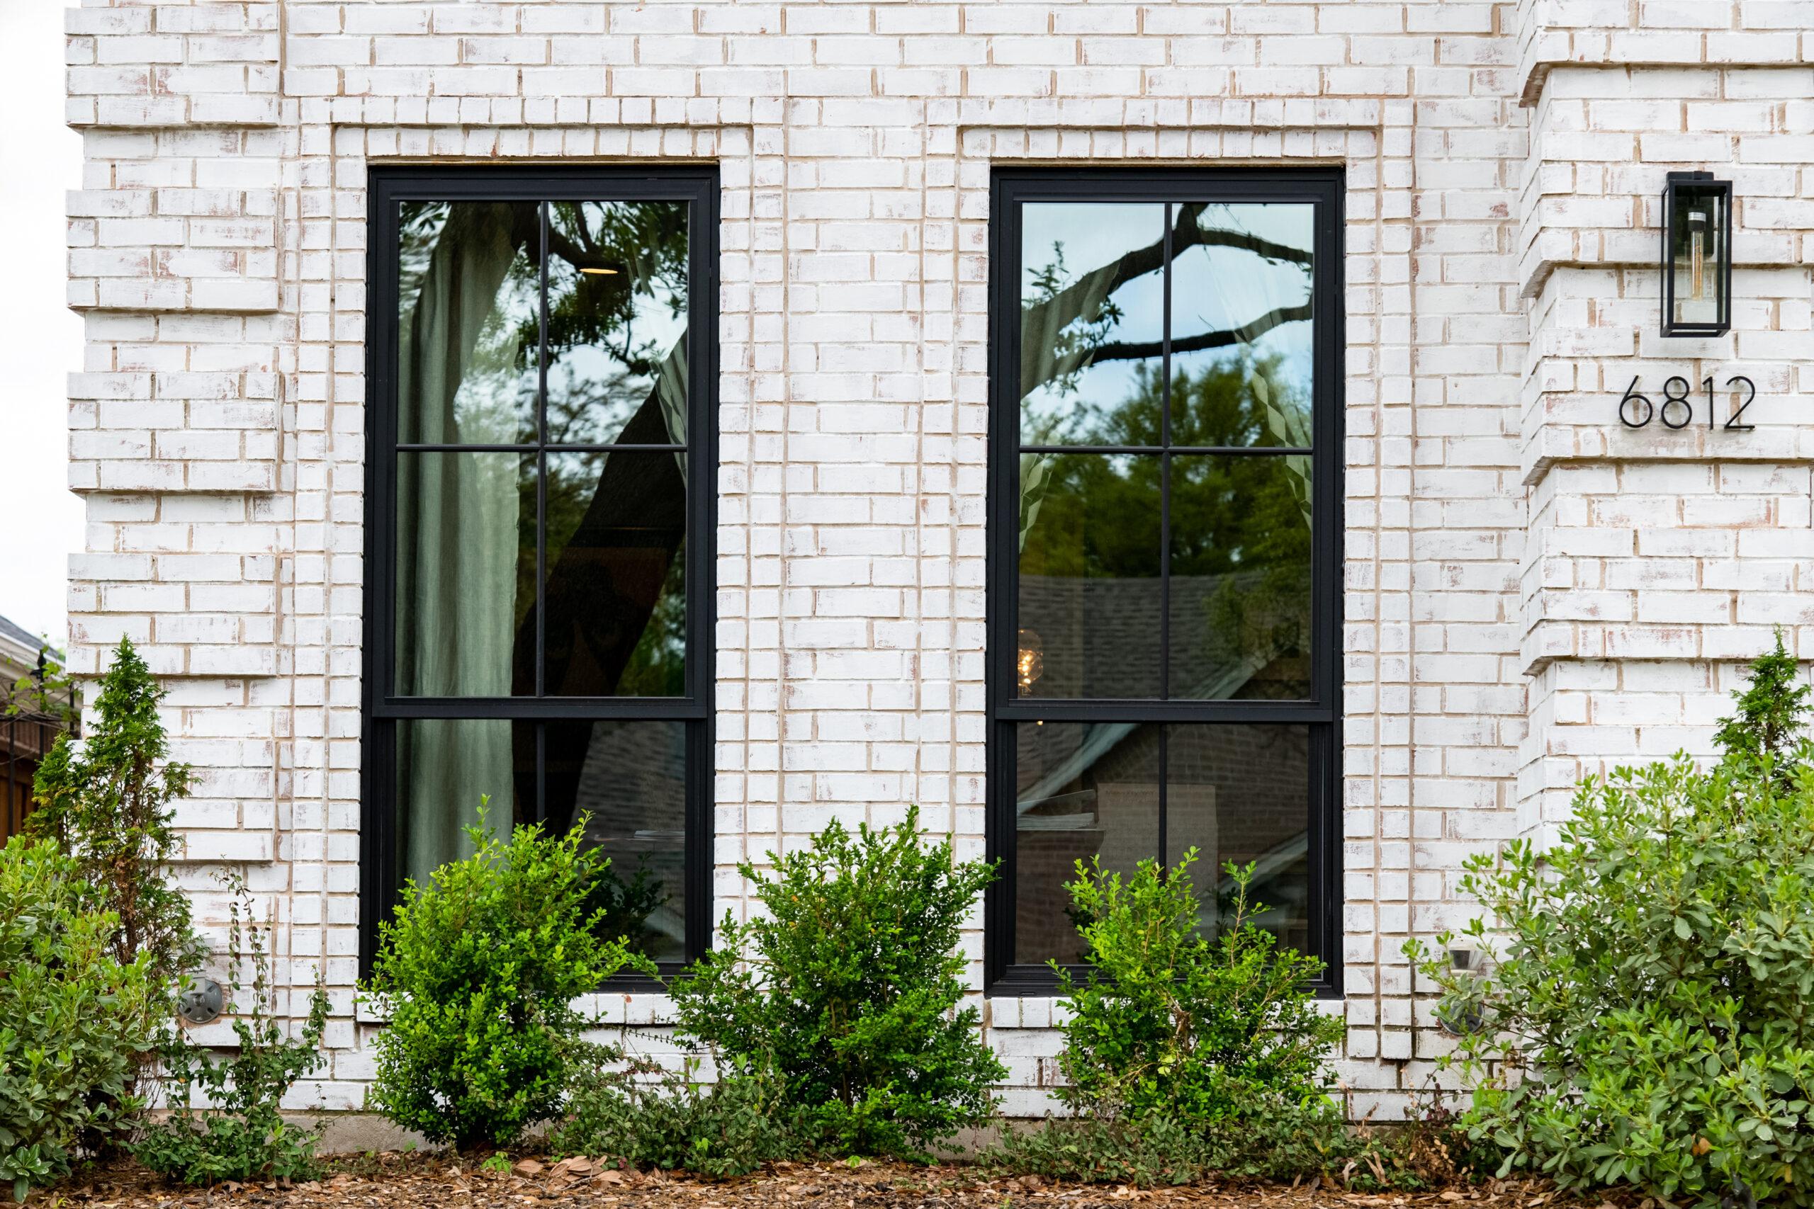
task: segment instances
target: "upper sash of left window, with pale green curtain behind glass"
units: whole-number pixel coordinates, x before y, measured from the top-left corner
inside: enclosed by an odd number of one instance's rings
[[[379,714],[472,716],[479,701],[499,716],[700,714],[715,214],[709,169],[374,178],[372,299],[390,312],[374,315],[368,350],[368,486],[381,509],[370,616],[388,631],[388,658],[372,669]],[[464,361],[461,381],[434,381],[448,361]],[[434,518],[450,484],[479,508],[437,538],[419,518]],[[497,584],[455,595],[463,576],[448,564],[486,537],[513,544],[512,558],[473,573]],[[424,547],[435,540],[448,549]],[[437,598],[455,602],[428,618],[446,634],[406,633]],[[580,598],[615,600],[626,616],[575,611]],[[644,611],[628,656],[573,658],[615,642],[610,625],[637,629]],[[475,656],[473,625],[510,651]]]

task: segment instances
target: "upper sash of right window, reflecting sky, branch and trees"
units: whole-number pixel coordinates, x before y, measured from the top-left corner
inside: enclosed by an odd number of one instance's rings
[[[998,716],[1331,718],[1335,178],[994,189]]]

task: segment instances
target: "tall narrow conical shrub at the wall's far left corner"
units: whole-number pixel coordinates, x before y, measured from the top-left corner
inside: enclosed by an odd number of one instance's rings
[[[58,736],[38,765],[36,808],[25,827],[76,861],[82,881],[118,915],[109,939],[114,959],[127,966],[143,953],[174,1010],[201,943],[189,923],[189,895],[165,874],[178,850],[171,803],[189,792],[190,769],[165,761],[161,700],[145,660],[122,638],[98,685],[94,727],[80,749],[69,734]]]

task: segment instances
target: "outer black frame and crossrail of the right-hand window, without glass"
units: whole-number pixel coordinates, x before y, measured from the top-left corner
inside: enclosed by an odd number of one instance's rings
[[[994,169],[989,199],[989,538],[985,582],[987,856],[1001,874],[985,892],[983,991],[1048,997],[1048,966],[1016,964],[1016,741],[1023,721],[1304,723],[1310,727],[1310,935],[1324,962],[1317,997],[1342,993],[1341,691],[1342,691],[1342,172],[1339,169]],[[1043,700],[1016,694],[1014,535],[1019,509],[1021,205],[1027,201],[1313,203],[1312,277],[1312,694],[1306,701]],[[1166,263],[1170,274],[1170,263]],[[1170,306],[1165,346],[1170,348]],[[1081,446],[1079,446],[1081,450]],[[1090,446],[1090,451],[1105,448]],[[1264,453],[1264,450],[1253,450]],[[1273,451],[1277,453],[1277,451]],[[1157,852],[1154,856],[1159,856]],[[1079,977],[1083,966],[1072,966]]]

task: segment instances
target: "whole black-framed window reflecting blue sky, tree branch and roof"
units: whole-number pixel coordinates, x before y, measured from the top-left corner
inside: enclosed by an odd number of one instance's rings
[[[990,232],[990,990],[1081,961],[1078,859],[1197,848],[1333,993],[1341,178],[1000,170]]]

